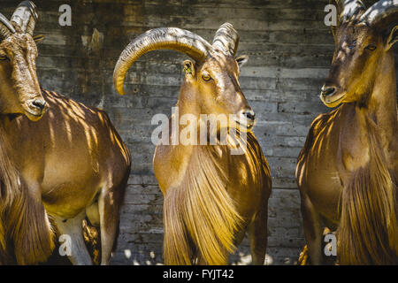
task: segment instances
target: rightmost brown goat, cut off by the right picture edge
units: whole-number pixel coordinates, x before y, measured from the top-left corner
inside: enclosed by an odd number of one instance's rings
[[[340,264],[398,264],[398,1],[368,10],[344,1],[339,10],[347,17],[319,96],[339,107],[312,122],[296,167],[310,263],[324,263],[327,226]]]

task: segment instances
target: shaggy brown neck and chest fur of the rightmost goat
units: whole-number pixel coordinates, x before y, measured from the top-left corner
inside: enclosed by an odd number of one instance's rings
[[[352,172],[341,195],[338,228],[340,264],[398,264],[396,202],[396,82],[394,56],[387,52],[364,107],[370,160]],[[388,156],[389,155],[389,156]],[[392,161],[392,163],[391,163]]]

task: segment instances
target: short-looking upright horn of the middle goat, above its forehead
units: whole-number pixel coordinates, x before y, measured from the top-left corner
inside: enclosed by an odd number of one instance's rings
[[[213,40],[213,48],[222,50],[226,54],[235,56],[239,45],[239,34],[230,23],[225,23],[218,28]]]

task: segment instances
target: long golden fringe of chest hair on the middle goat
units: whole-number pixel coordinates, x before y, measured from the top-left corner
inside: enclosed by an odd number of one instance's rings
[[[194,256],[190,241],[206,264],[226,263],[226,250],[233,252],[234,233],[242,222],[226,183],[216,149],[195,149],[184,180],[165,195],[165,264],[190,264]]]

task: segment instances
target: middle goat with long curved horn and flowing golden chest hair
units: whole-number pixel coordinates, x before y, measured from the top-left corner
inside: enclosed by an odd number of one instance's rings
[[[264,264],[271,175],[251,132],[254,111],[238,82],[240,67],[247,61],[234,57],[238,40],[228,23],[219,27],[212,46],[179,28],[157,28],[134,39],[115,67],[115,88],[123,94],[127,69],[149,50],[178,50],[195,60],[184,61],[178,113],[172,115],[190,117],[189,126],[169,133],[169,124],[163,125],[162,141],[169,142],[157,143],[153,158],[165,196],[165,264],[227,264],[248,228],[253,264]],[[201,128],[213,130],[203,134]],[[235,132],[221,142],[226,128]],[[189,142],[183,134],[187,129]],[[241,141],[243,135],[247,147],[233,155],[236,144],[230,139]],[[174,136],[181,142],[170,145]]]

